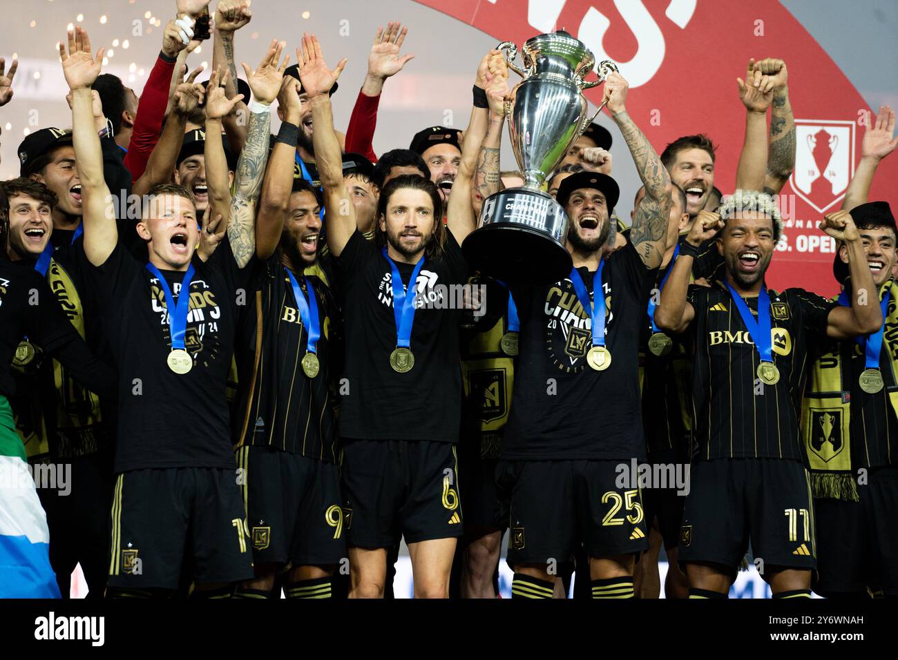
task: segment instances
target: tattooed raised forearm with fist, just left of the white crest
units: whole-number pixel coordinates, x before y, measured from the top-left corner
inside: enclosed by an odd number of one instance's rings
[[[795,169],[795,118],[788,102],[788,72],[781,59],[767,57],[754,63],[762,75],[773,81],[773,102],[770,104],[770,150],[767,155],[767,176],[764,189],[777,195]]]

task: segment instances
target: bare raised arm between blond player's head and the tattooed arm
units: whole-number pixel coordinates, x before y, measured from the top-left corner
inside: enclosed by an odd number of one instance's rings
[[[225,145],[222,143],[222,118],[233,110],[237,97],[228,100],[225,89],[222,87],[224,80],[219,77],[221,71],[212,72],[209,84],[206,88],[206,142],[203,146],[203,154],[206,166],[206,185],[208,187],[209,207],[206,213],[208,218],[222,216],[225,218],[226,229],[231,225],[231,185],[228,180],[227,159],[225,158]],[[225,71],[224,78],[230,77]],[[238,95],[242,98],[242,94]]]

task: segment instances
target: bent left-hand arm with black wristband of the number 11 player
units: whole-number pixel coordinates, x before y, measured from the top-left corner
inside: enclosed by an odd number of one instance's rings
[[[701,243],[713,238],[723,228],[720,216],[701,210],[686,236],[686,245],[674,261],[674,268],[661,289],[661,302],[655,308],[655,323],[658,328],[670,332],[682,332],[695,318],[695,308],[686,300],[689,292],[689,277],[692,262]]]

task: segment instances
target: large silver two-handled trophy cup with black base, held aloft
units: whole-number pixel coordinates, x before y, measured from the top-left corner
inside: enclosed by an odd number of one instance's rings
[[[503,41],[508,68],[524,80],[506,101],[506,119],[515,160],[524,185],[483,200],[478,228],[462,245],[465,258],[484,275],[511,282],[549,284],[568,275],[565,247],[568,215],[541,190],[568,147],[592,123],[582,91],[604,82],[617,66],[602,62],[598,79],[585,76],[595,57],[582,41],[565,31],[541,34],[524,43],[524,69],[514,64],[517,48]]]

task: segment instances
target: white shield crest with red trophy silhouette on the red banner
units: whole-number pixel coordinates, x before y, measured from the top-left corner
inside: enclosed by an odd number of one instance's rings
[[[825,213],[845,197],[854,175],[853,121],[796,119],[795,171],[789,178],[799,198]]]

